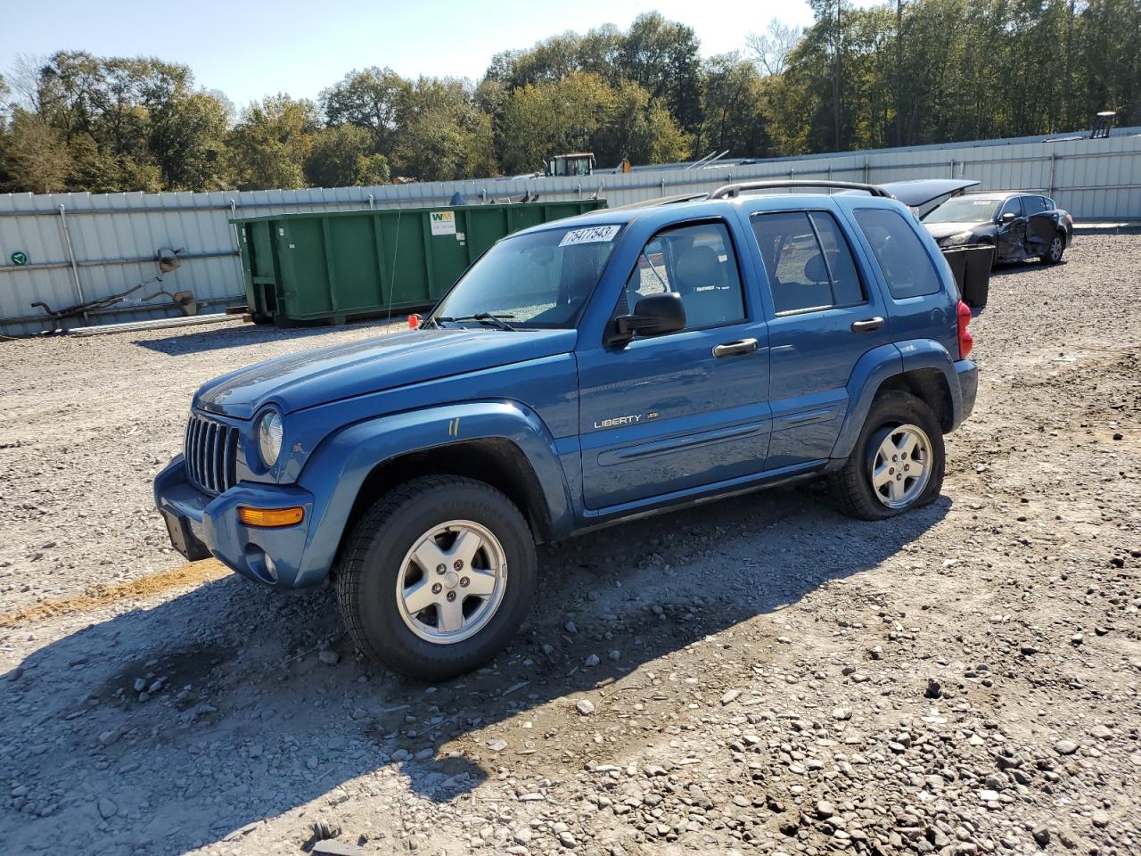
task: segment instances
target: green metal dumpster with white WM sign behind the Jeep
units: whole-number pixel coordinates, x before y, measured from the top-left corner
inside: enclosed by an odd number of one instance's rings
[[[436,302],[504,235],[606,207],[606,200],[389,208],[241,217],[245,298],[282,326],[387,315]]]

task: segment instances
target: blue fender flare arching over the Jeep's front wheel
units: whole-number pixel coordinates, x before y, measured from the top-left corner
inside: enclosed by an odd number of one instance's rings
[[[317,582],[337,557],[361,486],[379,465],[475,439],[508,441],[535,475],[551,533],[566,534],[573,512],[555,438],[531,409],[511,401],[466,402],[367,419],[335,431],[313,452],[297,484],[314,495],[302,574]]]

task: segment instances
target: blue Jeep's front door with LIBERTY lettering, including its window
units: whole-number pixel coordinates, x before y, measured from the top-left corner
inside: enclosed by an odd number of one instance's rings
[[[681,294],[686,329],[578,352],[583,502],[589,510],[760,473],[769,439],[766,326],[726,225],[658,233],[615,315]]]

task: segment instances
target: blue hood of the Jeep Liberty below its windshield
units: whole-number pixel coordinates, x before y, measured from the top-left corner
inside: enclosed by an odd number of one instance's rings
[[[250,419],[273,403],[285,413],[366,393],[565,354],[575,330],[410,330],[269,360],[202,386],[194,406]]]

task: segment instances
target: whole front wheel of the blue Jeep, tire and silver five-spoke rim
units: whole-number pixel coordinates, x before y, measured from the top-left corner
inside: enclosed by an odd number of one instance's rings
[[[369,656],[421,680],[475,669],[515,635],[535,588],[535,543],[519,509],[471,478],[427,476],[357,523],[337,599]]]

